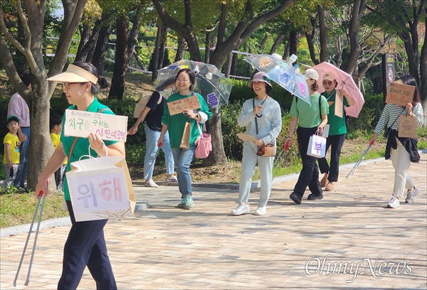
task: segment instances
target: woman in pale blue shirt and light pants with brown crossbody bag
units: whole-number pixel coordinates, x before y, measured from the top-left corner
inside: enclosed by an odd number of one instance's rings
[[[253,99],[243,104],[237,119],[240,127],[246,127],[246,134],[255,137],[256,141],[243,143],[243,160],[241,166],[240,186],[238,190],[238,206],[231,210],[231,215],[249,213],[249,193],[251,192],[252,176],[255,165],[260,170],[260,203],[255,215],[265,215],[268,198],[271,193],[272,171],[274,156],[259,156],[258,148],[265,144],[274,143],[282,130],[282,112],[278,102],[269,97],[273,90],[270,77],[266,73],[255,73],[249,87],[255,92]]]

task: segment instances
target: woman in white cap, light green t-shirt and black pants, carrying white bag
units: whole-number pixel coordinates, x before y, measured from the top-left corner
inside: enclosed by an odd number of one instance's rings
[[[295,184],[293,193],[289,196],[290,199],[298,205],[301,203],[302,196],[307,186],[311,191],[307,200],[323,198],[322,187],[319,182],[319,168],[317,168],[316,164],[317,157],[307,155],[307,149],[310,136],[315,134],[316,131],[322,133],[323,127],[327,124],[327,114],[329,113],[326,98],[317,92],[319,88],[317,85],[317,80],[319,79],[317,71],[309,68],[305,70],[303,76],[310,90],[311,105],[306,102],[297,102],[296,98],[294,98],[292,106],[290,107],[291,119],[288,139],[285,141],[285,147],[289,148],[292,142],[292,136],[295,132],[295,127],[297,126],[297,122],[299,122],[297,140],[302,159],[302,170],[297,184]]]

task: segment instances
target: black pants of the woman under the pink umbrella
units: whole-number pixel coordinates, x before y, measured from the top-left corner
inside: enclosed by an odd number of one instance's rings
[[[342,144],[344,144],[345,134],[329,136],[326,139],[326,151],[331,146],[331,161],[328,165],[326,158],[318,160],[321,173],[329,173],[328,181],[338,181],[339,175],[339,155],[341,155]]]

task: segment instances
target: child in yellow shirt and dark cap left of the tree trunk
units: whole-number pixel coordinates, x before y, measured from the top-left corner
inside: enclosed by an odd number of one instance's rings
[[[19,118],[15,115],[9,116],[6,120],[9,133],[4,136],[4,168],[6,169],[6,180],[4,181],[4,188],[9,184],[13,184],[16,178],[16,171],[19,166],[19,137],[16,134],[19,128]]]

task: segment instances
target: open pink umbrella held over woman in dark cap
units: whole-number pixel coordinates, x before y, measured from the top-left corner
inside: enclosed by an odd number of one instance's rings
[[[343,90],[344,92],[347,92],[347,94],[353,98],[355,103],[352,107],[346,107],[345,112],[347,115],[357,118],[359,116],[360,110],[363,107],[364,97],[362,92],[360,92],[359,87],[357,87],[356,83],[354,82],[352,75],[349,75],[349,73],[344,72],[344,70],[340,70],[336,66],[326,62],[315,65],[312,68],[314,68],[319,74],[318,92],[325,92],[325,89],[322,87],[323,75],[325,75],[325,73],[332,72],[337,76],[337,90]]]

